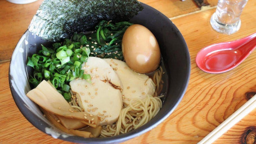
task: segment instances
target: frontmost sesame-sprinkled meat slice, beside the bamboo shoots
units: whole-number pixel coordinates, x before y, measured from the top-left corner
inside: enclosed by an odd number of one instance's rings
[[[69,84],[71,90],[76,93],[79,106],[91,115],[98,115],[101,118],[100,125],[113,124],[118,120],[123,107],[119,89],[96,78],[91,82],[75,79]]]

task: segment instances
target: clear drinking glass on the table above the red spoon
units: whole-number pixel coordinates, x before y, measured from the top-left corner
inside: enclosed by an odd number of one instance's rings
[[[233,34],[240,29],[240,15],[248,0],[219,0],[217,10],[210,18],[213,29],[219,33]]]

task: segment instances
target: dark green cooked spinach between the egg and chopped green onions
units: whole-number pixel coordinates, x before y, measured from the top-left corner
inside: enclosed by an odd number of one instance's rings
[[[122,38],[124,31],[131,26],[128,21],[101,21],[95,28],[96,32],[88,35],[87,46],[91,50],[90,56],[123,60]]]

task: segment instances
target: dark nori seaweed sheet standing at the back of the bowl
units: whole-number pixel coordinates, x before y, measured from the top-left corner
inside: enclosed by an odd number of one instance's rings
[[[128,21],[143,9],[136,0],[45,0],[29,25],[39,37],[58,41],[92,30],[101,20]]]

